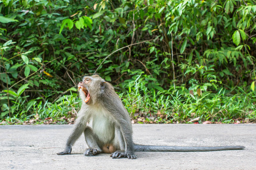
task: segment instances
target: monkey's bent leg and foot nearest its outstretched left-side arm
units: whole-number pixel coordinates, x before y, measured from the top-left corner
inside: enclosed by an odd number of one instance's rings
[[[98,146],[98,144],[100,144],[100,140],[89,126],[86,126],[84,130],[84,137],[87,145],[89,146],[89,148],[84,152],[85,156],[94,156],[102,152],[101,148]]]

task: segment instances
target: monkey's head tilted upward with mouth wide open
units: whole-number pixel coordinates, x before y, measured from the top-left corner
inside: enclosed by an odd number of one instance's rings
[[[84,100],[86,104],[97,103],[97,100],[99,100],[101,98],[100,96],[104,93],[107,84],[108,83],[98,75],[85,76],[82,82],[78,84],[81,99]]]

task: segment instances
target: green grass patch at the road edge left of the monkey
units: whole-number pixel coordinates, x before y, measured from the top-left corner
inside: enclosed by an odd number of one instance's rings
[[[78,95],[64,95],[55,103],[42,102],[38,99],[29,101],[27,105],[18,105],[13,117],[7,116],[0,120],[1,124],[68,124],[73,123],[80,108]],[[32,103],[32,104],[31,104]],[[14,105],[13,107],[16,107]],[[26,113],[26,114],[25,114]]]

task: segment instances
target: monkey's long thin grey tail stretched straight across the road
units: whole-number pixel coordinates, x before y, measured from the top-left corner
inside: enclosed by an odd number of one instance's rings
[[[204,152],[204,151],[224,151],[243,150],[244,146],[217,146],[217,147],[181,147],[181,146],[151,146],[136,145],[134,151],[137,152]]]

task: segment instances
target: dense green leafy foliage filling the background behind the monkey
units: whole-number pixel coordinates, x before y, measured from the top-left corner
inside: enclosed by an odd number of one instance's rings
[[[253,96],[255,14],[247,0],[0,1],[1,118],[61,116],[60,97],[95,72],[133,117],[246,117],[228,99]],[[237,105],[255,120],[253,103]]]

